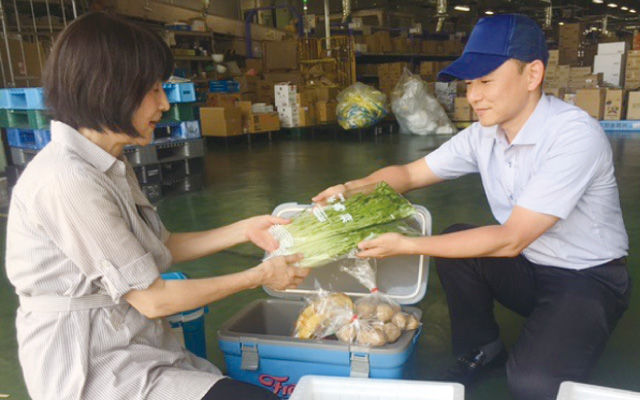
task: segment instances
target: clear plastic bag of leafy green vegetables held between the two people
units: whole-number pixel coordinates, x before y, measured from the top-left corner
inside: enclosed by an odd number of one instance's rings
[[[267,258],[302,253],[301,267],[318,267],[347,257],[358,243],[388,232],[420,235],[403,220],[415,209],[384,182],[348,191],[275,225],[279,248]]]

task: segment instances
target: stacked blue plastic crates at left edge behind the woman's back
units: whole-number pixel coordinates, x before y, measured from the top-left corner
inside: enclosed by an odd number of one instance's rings
[[[7,175],[13,185],[27,163],[51,141],[42,88],[0,89],[0,127],[7,133],[13,160]]]

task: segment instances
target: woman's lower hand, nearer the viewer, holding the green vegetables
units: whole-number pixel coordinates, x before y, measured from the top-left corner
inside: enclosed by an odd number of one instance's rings
[[[309,268],[296,266],[302,254],[271,258],[255,267],[263,286],[274,290],[294,289],[309,275]]]

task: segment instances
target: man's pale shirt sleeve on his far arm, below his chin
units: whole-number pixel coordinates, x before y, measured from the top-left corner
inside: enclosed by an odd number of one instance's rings
[[[476,139],[473,131],[472,125],[425,156],[425,162],[434,174],[442,179],[456,179],[478,172],[476,146],[471,143]]]

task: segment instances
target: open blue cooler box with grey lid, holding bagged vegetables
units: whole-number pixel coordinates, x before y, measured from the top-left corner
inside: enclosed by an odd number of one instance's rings
[[[308,205],[287,203],[273,215],[288,218]],[[431,215],[415,206],[412,224],[431,234]],[[354,376],[385,379],[412,379],[416,371],[415,349],[421,330],[405,331],[395,342],[380,347],[349,345],[338,340],[303,340],[293,337],[298,315],[308,304],[303,299],[323,289],[343,292],[352,299],[366,296],[367,289],[355,278],[341,272],[344,262],[315,268],[293,290],[265,290],[274,298],[249,304],[218,331],[227,374],[237,380],[265,387],[287,399],[305,375]],[[377,261],[379,289],[420,319],[422,312],[407,306],[420,301],[427,290],[429,258],[400,256]]]

